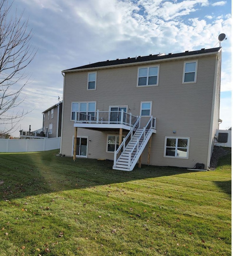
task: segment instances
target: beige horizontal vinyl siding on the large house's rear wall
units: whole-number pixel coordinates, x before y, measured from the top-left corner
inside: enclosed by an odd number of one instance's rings
[[[109,106],[127,105],[131,108],[128,112],[139,115],[141,102],[152,101],[157,134],[152,135],[150,164],[193,167],[198,162],[206,165],[215,60],[215,55],[188,58],[188,61],[198,61],[197,82],[190,84],[182,84],[183,63],[187,59],[159,62],[159,83],[151,87],[136,87],[138,68],[147,66],[143,64],[98,69],[94,91],[87,91],[88,72],[66,73],[62,154],[71,156],[74,135],[74,122],[70,121],[71,102],[96,101],[96,110],[100,111],[108,111]],[[157,64],[155,61],[154,65]],[[147,121],[144,118],[141,124],[145,125]],[[175,134],[173,130],[176,130]],[[113,159],[113,154],[106,153],[107,134],[110,132],[78,128],[78,136],[88,135],[91,140],[88,144],[88,157]],[[166,136],[190,138],[189,158],[164,157]],[[145,164],[147,152],[146,148],[143,152]]]

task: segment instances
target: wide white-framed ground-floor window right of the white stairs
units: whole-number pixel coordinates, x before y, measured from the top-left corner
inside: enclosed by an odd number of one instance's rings
[[[165,137],[164,156],[175,158],[189,157],[190,138]]]

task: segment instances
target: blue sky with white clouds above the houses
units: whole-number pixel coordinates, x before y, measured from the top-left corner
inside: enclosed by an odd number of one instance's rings
[[[11,0],[9,0],[11,2]],[[231,127],[231,1],[15,0],[38,49],[19,109],[21,129],[42,127],[42,112],[63,94],[61,70],[98,61],[222,46],[220,129]],[[19,136],[19,129],[13,135]]]

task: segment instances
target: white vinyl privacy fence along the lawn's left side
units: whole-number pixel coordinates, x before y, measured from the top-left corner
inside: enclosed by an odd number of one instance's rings
[[[50,139],[0,139],[0,152],[37,152],[60,148],[60,137]]]

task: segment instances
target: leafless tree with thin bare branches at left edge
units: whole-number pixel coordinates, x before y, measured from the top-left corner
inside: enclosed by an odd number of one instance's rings
[[[16,110],[25,98],[20,97],[30,79],[25,68],[35,57],[32,30],[23,13],[11,16],[12,3],[0,0],[0,134],[18,129],[28,111]]]

